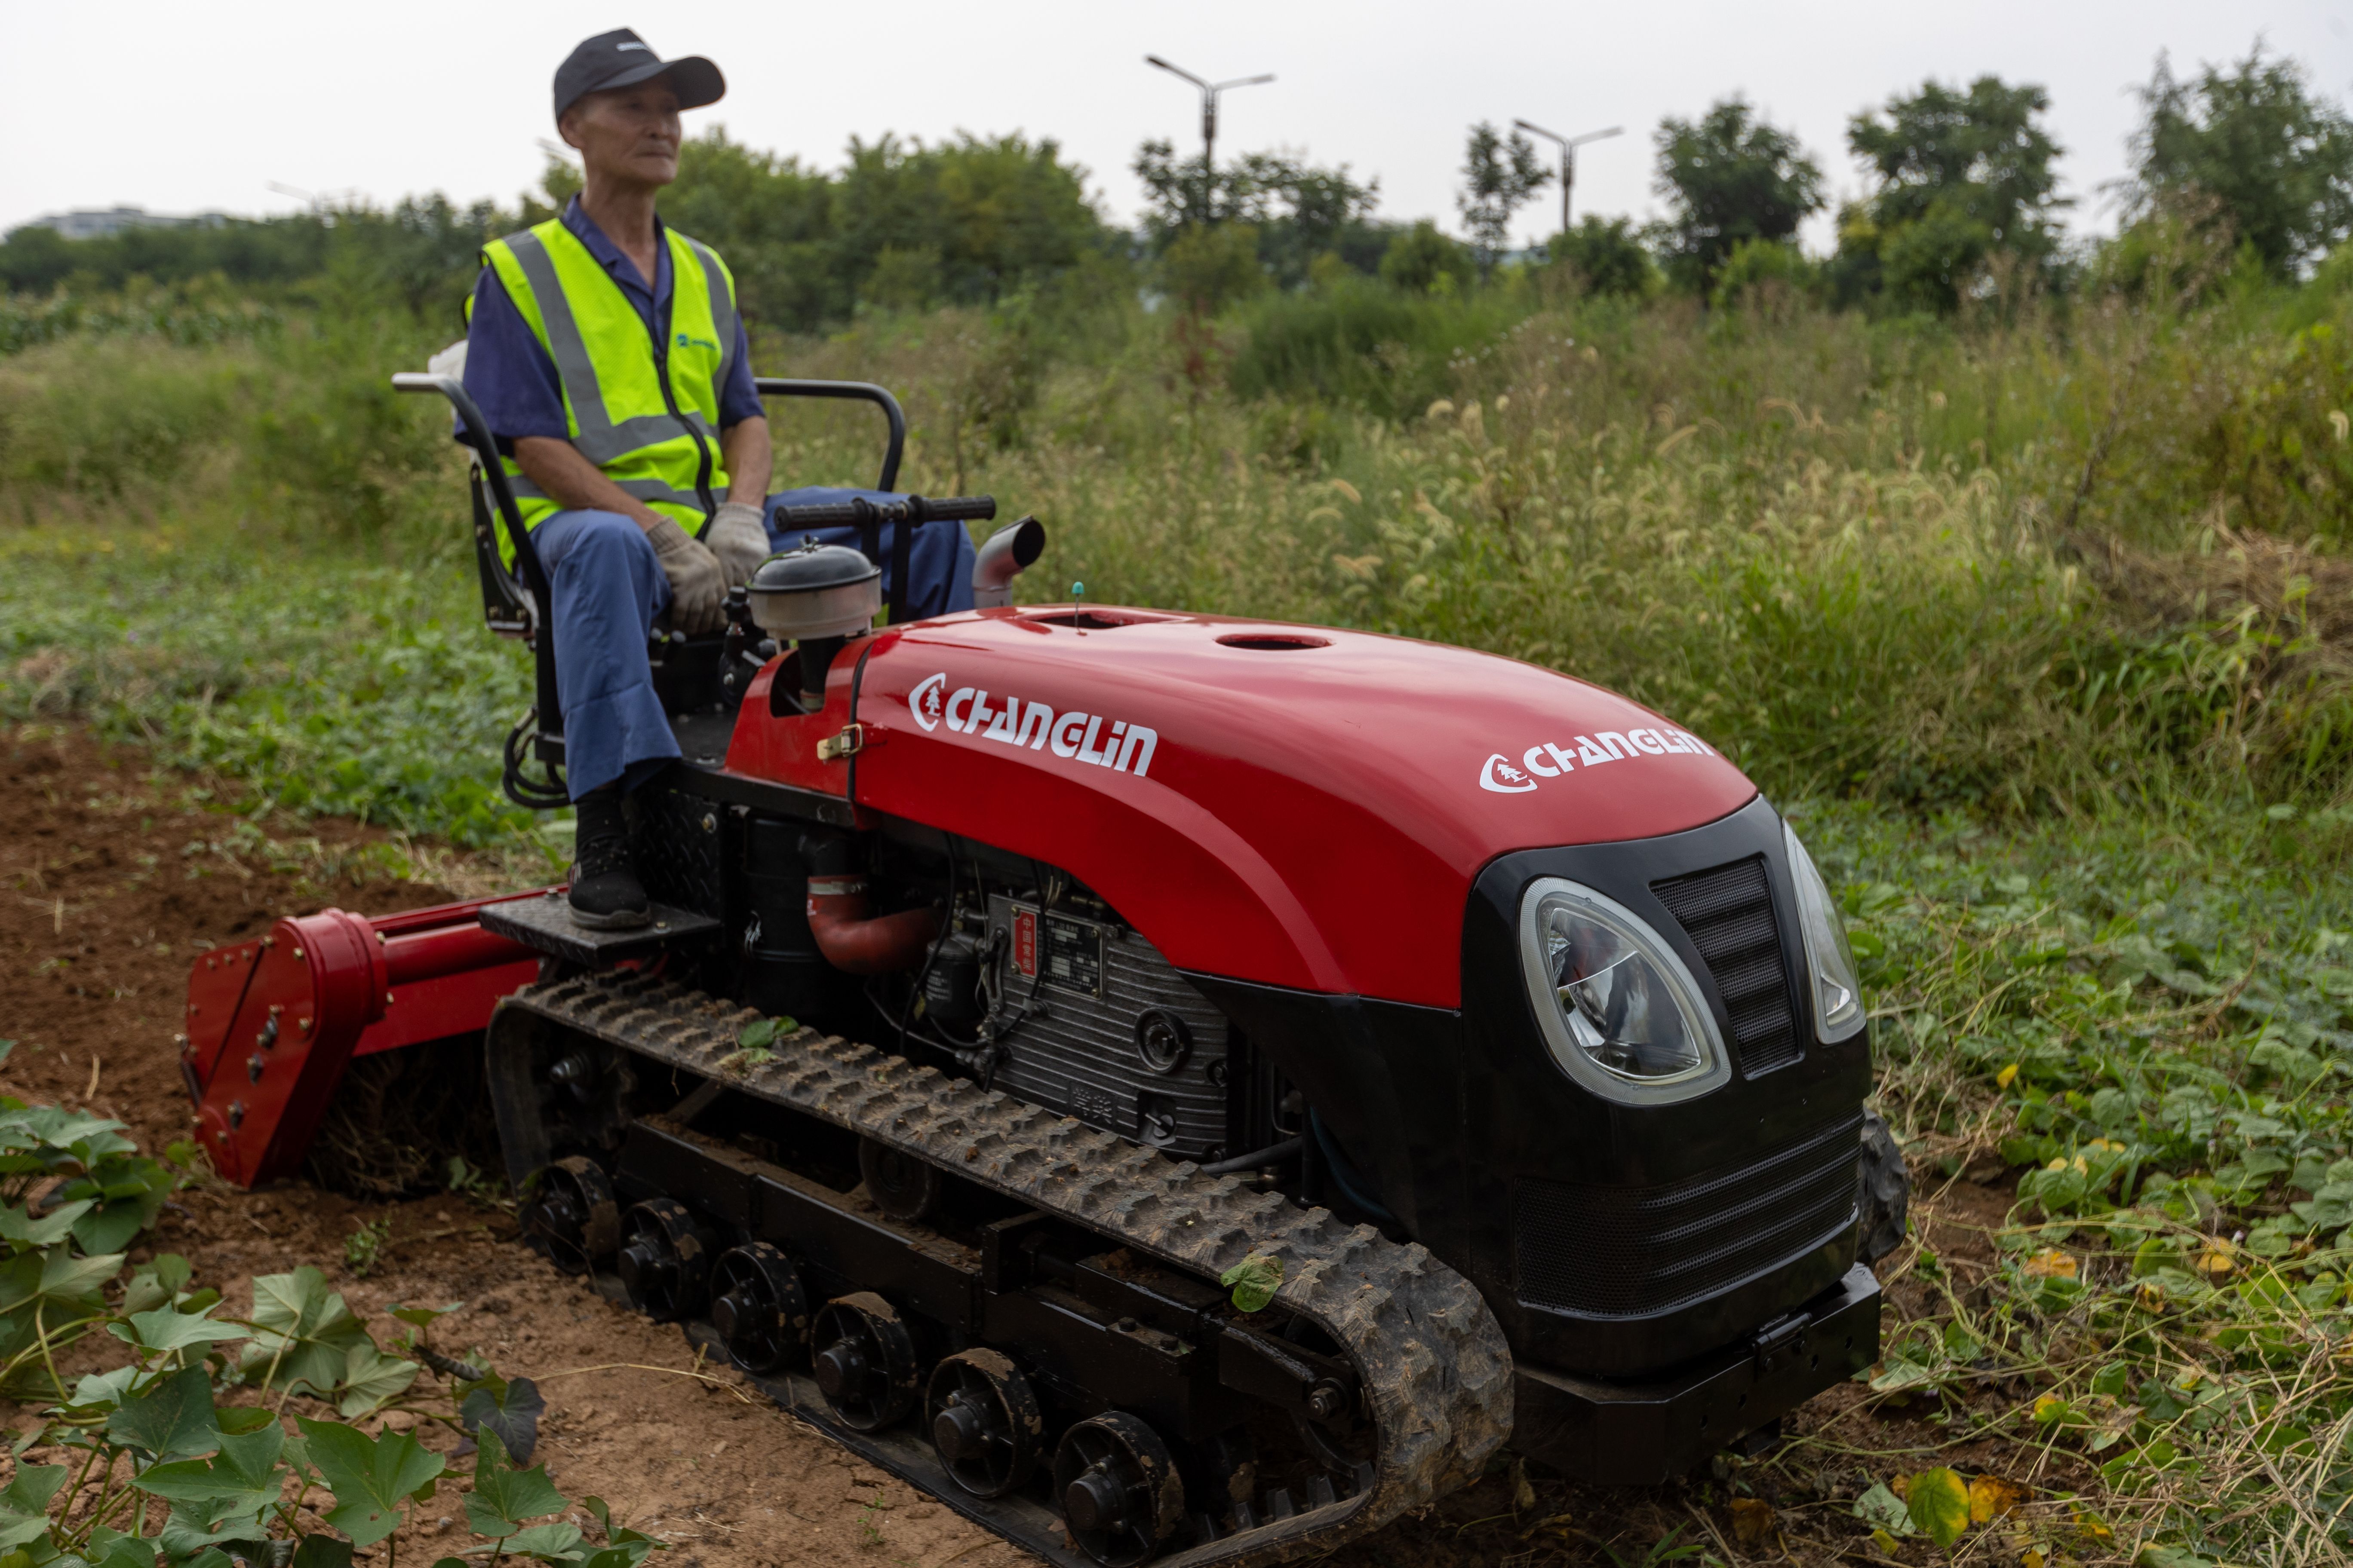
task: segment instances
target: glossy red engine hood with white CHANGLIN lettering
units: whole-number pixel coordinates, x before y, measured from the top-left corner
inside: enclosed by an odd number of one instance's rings
[[[1457,1006],[1487,860],[1755,797],[1621,696],[1405,637],[995,609],[880,635],[856,679],[861,806],[1068,870],[1179,969],[1320,992]]]

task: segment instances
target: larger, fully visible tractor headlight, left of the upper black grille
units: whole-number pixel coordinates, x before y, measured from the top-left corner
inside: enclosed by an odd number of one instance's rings
[[[1593,1093],[1666,1105],[1732,1077],[1692,971],[1614,898],[1565,877],[1529,886],[1520,969],[1553,1060]]]

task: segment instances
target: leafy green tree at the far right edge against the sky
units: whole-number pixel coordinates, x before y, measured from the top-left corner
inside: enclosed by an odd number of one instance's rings
[[[2137,212],[2202,193],[2273,277],[2299,275],[2353,233],[2353,122],[2311,94],[2294,61],[2266,61],[2257,42],[2228,71],[2202,66],[2181,82],[2160,54],[2139,96]]]

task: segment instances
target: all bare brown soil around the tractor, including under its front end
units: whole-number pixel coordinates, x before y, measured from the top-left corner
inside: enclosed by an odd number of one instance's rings
[[[0,1063],[0,1091],[87,1105],[160,1150],[188,1133],[172,1032],[193,954],[249,938],[285,912],[339,905],[379,914],[499,886],[496,867],[449,856],[433,863],[431,882],[388,875],[386,835],[351,823],[273,818],[268,842],[256,844],[226,809],[233,799],[231,788],[151,771],[139,752],[71,729],[0,731],[0,1037],[16,1039]],[[1920,1206],[1955,1291],[1991,1267],[1986,1234],[2007,1201],[2007,1180],[1995,1178],[1955,1180]],[[360,1225],[384,1237],[365,1276],[346,1255]],[[325,1269],[386,1342],[398,1331],[384,1316],[391,1305],[464,1302],[435,1326],[435,1345],[539,1380],[548,1418],[536,1458],[551,1479],[574,1500],[605,1497],[624,1521],[673,1542],[654,1559],[666,1568],[1035,1561],[739,1389],[725,1368],[701,1366],[675,1328],[558,1274],[513,1241],[513,1220],[494,1206],[461,1194],[358,1204],[308,1185],[247,1194],[205,1182],[179,1197],[151,1244],[184,1253],[198,1284],[216,1286],[233,1314],[249,1307],[254,1274],[304,1262]],[[1925,1307],[1920,1295],[1918,1284],[1894,1293],[1906,1316]],[[99,1349],[80,1354],[96,1363]],[[1934,1413],[1929,1403],[1873,1408],[1847,1385],[1788,1422],[1812,1441],[1666,1488],[1577,1486],[1499,1460],[1478,1486],[1325,1561],[1642,1561],[1671,1530],[1727,1563],[1885,1561],[1852,1519],[1852,1497],[1897,1469],[1939,1460],[1854,1450],[1925,1448],[1941,1434],[1927,1420]],[[26,1413],[12,1420],[28,1425]],[[442,1450],[456,1441],[440,1427],[426,1427],[424,1439]],[[1991,1448],[1948,1450],[1944,1462],[2024,1479],[2017,1455]],[[1739,1514],[1734,1495],[1762,1497],[1772,1514],[1753,1505]],[[1758,1519],[1769,1521],[1762,1535]],[[1739,1530],[1744,1521],[1751,1535]],[[466,1542],[464,1507],[447,1486],[395,1537],[409,1563]],[[1904,1561],[1932,1556],[1920,1542],[1904,1549]],[[386,1559],[379,1549],[362,1561]]]

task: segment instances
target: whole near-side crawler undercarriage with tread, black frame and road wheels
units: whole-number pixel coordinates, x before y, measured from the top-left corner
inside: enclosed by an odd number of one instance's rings
[[[852,1293],[833,1293],[831,1284],[824,1293],[812,1291],[807,1298],[807,1312],[816,1316],[812,1333],[835,1335],[826,1340],[833,1345],[854,1340],[861,1347],[859,1356],[842,1359],[835,1349],[821,1359],[814,1378],[762,1375],[760,1385],[958,1512],[1054,1563],[1144,1561],[1144,1556],[1169,1568],[1275,1563],[1329,1552],[1475,1481],[1487,1458],[1511,1434],[1513,1361],[1504,1333],[1478,1291],[1419,1244],[1393,1244],[1369,1225],[1348,1227],[1322,1208],[1299,1208],[1282,1194],[1254,1192],[1242,1178],[1202,1175],[1193,1164],[1024,1105],[1002,1091],[984,1091],[934,1067],[918,1067],[816,1030],[744,1051],[739,1034],[755,1018],[753,1011],[729,1001],[633,973],[593,973],[515,992],[499,1004],[487,1034],[489,1084],[508,1173],[522,1185],[562,1154],[574,1154],[560,1166],[569,1171],[591,1164],[576,1157],[579,1147],[605,1147],[609,1154],[602,1159],[614,1166],[614,1185],[602,1187],[602,1175],[586,1173],[595,1187],[591,1208],[598,1213],[614,1204],[626,1206],[647,1192],[682,1194],[720,1227],[755,1237],[727,1258],[760,1253],[767,1237],[786,1239],[786,1251],[798,1246],[802,1253],[831,1255],[828,1267],[816,1267],[816,1258],[805,1262],[828,1281],[849,1279]],[[551,1117],[572,1117],[562,1093],[551,1091],[551,1058],[562,1067],[595,1048],[621,1053],[619,1060],[626,1063],[621,1079],[701,1081],[701,1088],[692,1088],[668,1114],[598,1112],[602,1121],[588,1126],[576,1119],[551,1124]],[[560,1081],[565,1074],[553,1077]],[[687,1121],[701,1114],[722,1086],[732,1095],[854,1133],[868,1140],[878,1157],[920,1161],[969,1182],[991,1204],[1012,1199],[1028,1213],[991,1222],[976,1248],[958,1244],[922,1225],[925,1194],[904,1171],[894,1178],[899,1187],[885,1182],[880,1192],[873,1185],[875,1171],[868,1171],[866,1185],[859,1187],[859,1194],[873,1194],[868,1201],[746,1152],[739,1147],[741,1140],[729,1145],[692,1131]],[[826,1138],[840,1135],[816,1131]],[[673,1253],[685,1258],[708,1246],[696,1241],[682,1248],[671,1241],[673,1232],[685,1234],[687,1215],[682,1208],[673,1215],[668,1208],[678,1208],[675,1204],[656,1213],[661,1201],[647,1199],[626,1211],[626,1227],[633,1229],[621,1239],[621,1265],[626,1274],[640,1279],[640,1288],[631,1291],[633,1300],[647,1295],[642,1281],[654,1279],[661,1281],[654,1295],[671,1302],[673,1274],[661,1269],[673,1267]],[[896,1218],[901,1213],[906,1218]],[[1024,1225],[1099,1237],[1106,1255],[1134,1258],[1134,1265],[1122,1265],[1129,1279],[1148,1274],[1160,1284],[1113,1284],[1104,1272],[1089,1274],[1099,1260],[1082,1258],[1066,1279],[1071,1291],[1024,1286],[1019,1279],[1028,1267],[1019,1248]],[[1217,1284],[1221,1272],[1249,1255],[1275,1258],[1282,1265],[1275,1312],[1266,1312],[1264,1319],[1233,1312]],[[744,1265],[720,1260],[720,1265],[713,1279],[725,1276],[736,1284],[713,1286],[708,1312],[675,1312],[687,1319],[687,1333],[696,1342],[725,1342],[727,1326],[748,1321],[746,1302],[765,1300],[755,1288],[762,1279],[755,1260]],[[859,1279],[861,1272],[866,1279]],[[1094,1312],[1082,1300],[1089,1281],[1108,1291],[1134,1288],[1136,1300],[1148,1298],[1162,1309],[1181,1307],[1191,1314],[1179,1321],[1184,1335],[1158,1333],[1151,1324],[1139,1326],[1136,1316],[1113,1319]],[[609,1288],[612,1281],[605,1284]],[[1026,1342],[1024,1333],[1054,1319],[1078,1335],[1073,1356],[1094,1354],[1132,1368],[1172,1368],[1165,1375],[1188,1380],[1205,1403],[1221,1399],[1228,1408],[1231,1401],[1275,1413],[1289,1408],[1304,1422],[1301,1432],[1311,1429],[1306,1425],[1311,1415],[1325,1418],[1346,1401],[1369,1418],[1358,1432],[1369,1429],[1372,1446],[1358,1450],[1362,1458],[1353,1465],[1353,1474],[1334,1467],[1337,1483],[1315,1474],[1301,1488],[1304,1495],[1268,1490],[1261,1500],[1247,1502],[1235,1493],[1235,1507],[1224,1519],[1205,1512],[1186,1514],[1181,1521],[1172,1516],[1158,1537],[1160,1544],[1132,1556],[1132,1540],[1144,1537],[1106,1535],[1113,1526],[1127,1528],[1129,1505],[1158,1497],[1155,1507],[1162,1514],[1181,1507],[1172,1481],[1155,1481],[1169,1474],[1169,1460],[1153,1429],[1118,1413],[1094,1415],[1071,1429],[1071,1439],[1087,1441],[1066,1439],[1064,1458],[1082,1450],[1080,1460],[1089,1460],[1094,1469],[1071,1479],[1059,1474],[1064,1460],[1056,1460],[1054,1495],[1071,1490],[1080,1497],[1078,1505],[1068,1505],[1068,1521],[1056,1519],[1056,1512],[1033,1495],[976,1495],[969,1481],[960,1488],[946,1479],[941,1453],[934,1453],[939,1443],[934,1413],[927,1413],[920,1394],[899,1392],[904,1380],[899,1371],[882,1373],[885,1363],[896,1368],[896,1359],[904,1356],[889,1349],[889,1335],[901,1333],[896,1328],[901,1307],[927,1324],[946,1324],[974,1342],[962,1356],[984,1361],[995,1352],[979,1349],[981,1342]],[[1320,1331],[1313,1338],[1327,1340],[1337,1352],[1311,1354],[1278,1338],[1275,1326],[1287,1321],[1285,1314],[1299,1328]],[[1000,1333],[1000,1326],[1012,1328]],[[753,1363],[767,1361],[758,1354],[762,1340],[746,1342],[755,1349]],[[915,1342],[922,1342],[922,1331]],[[1080,1342],[1092,1342],[1092,1349]],[[1005,1356],[998,1361],[1012,1368]],[[1311,1363],[1322,1363],[1327,1371],[1318,1373]],[[906,1375],[920,1371],[927,1368],[911,1363]],[[852,1373],[873,1387],[859,1385],[856,1399],[845,1401],[833,1385],[849,1382]],[[965,1380],[986,1392],[986,1378],[972,1373]],[[819,1396],[819,1387],[826,1396]],[[939,1380],[932,1387],[936,1399]],[[908,1399],[913,1399],[908,1406],[913,1422],[899,1413]],[[955,1420],[974,1429],[988,1420],[1002,1425],[1002,1418],[984,1420],[984,1415],[986,1410]],[[934,1441],[922,1441],[913,1432],[927,1422],[934,1422]],[[1193,1448],[1193,1453],[1205,1450],[1209,1443]],[[944,1453],[953,1460],[958,1450],[951,1443]],[[1094,1493],[1104,1493],[1111,1502],[1099,1505],[1092,1500]],[[1193,1507],[1200,1507],[1198,1497]],[[1073,1549],[1078,1544],[1087,1547],[1087,1556]]]

